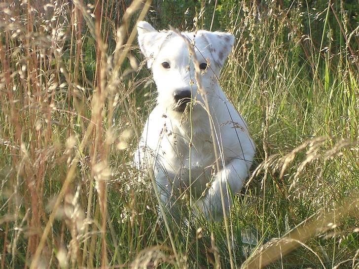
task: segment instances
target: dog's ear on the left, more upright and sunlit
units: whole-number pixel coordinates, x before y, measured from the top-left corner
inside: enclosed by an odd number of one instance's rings
[[[140,21],[137,24],[139,34],[139,45],[144,57],[147,60],[147,67],[151,68],[153,59],[158,54],[168,33],[158,32],[149,23]]]

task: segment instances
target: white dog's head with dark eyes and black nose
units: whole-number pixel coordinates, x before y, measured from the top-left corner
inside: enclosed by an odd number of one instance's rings
[[[159,105],[183,112],[190,98],[203,102],[197,95],[195,69],[183,37],[194,44],[199,67],[204,71],[201,75],[204,90],[208,96],[215,94],[220,69],[234,44],[232,34],[201,30],[182,32],[180,36],[173,31],[158,32],[144,21],[138,23],[137,30],[141,51],[157,85]]]

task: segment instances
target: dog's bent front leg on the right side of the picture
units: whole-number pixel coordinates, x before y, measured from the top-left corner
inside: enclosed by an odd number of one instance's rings
[[[197,206],[202,210],[207,219],[220,220],[223,216],[223,206],[227,213],[232,204],[230,193],[237,193],[243,185],[244,180],[248,177],[250,162],[238,157],[232,159],[224,168],[218,171],[209,188],[206,196],[197,202]],[[221,192],[222,189],[222,192]]]

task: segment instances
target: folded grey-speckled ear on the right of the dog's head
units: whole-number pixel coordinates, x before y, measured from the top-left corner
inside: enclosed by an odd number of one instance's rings
[[[234,36],[223,32],[198,31],[197,36],[202,35],[210,46],[215,64],[220,68],[227,59],[234,45]]]

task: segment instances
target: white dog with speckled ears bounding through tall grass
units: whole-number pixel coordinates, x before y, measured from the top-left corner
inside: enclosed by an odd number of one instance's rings
[[[158,32],[147,22],[137,28],[158,97],[135,152],[135,165],[153,172],[165,208],[189,192],[194,208],[207,219],[220,220],[248,177],[255,151],[245,121],[217,82],[234,36]],[[194,63],[202,69],[201,83],[195,80]]]

